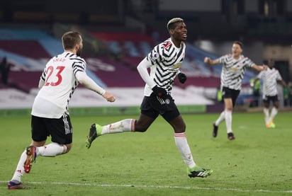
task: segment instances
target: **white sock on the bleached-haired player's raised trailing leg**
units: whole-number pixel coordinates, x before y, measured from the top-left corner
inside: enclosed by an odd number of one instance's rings
[[[125,119],[103,126],[101,134],[135,132],[135,119]]]

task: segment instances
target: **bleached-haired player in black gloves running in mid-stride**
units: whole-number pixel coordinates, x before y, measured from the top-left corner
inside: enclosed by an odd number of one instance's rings
[[[187,166],[190,178],[207,177],[212,173],[209,169],[201,168],[193,161],[191,149],[186,140],[186,125],[171,96],[174,79],[184,83],[186,75],[179,71],[186,50],[186,24],[181,18],[172,18],[167,23],[170,38],[155,46],[137,66],[142,79],[145,81],[144,98],[140,105],[140,117],[113,122],[110,125],[91,125],[86,139],[86,147],[103,134],[120,132],[146,132],[158,115],[162,115],[174,129],[174,142]],[[150,74],[147,69],[150,68]]]

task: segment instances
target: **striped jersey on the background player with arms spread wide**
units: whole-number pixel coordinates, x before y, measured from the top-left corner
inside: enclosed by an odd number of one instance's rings
[[[221,71],[221,87],[225,86],[234,90],[241,90],[245,69],[247,67],[252,67],[254,62],[243,55],[240,55],[239,59],[234,59],[232,54],[225,54],[219,57],[219,62],[223,64]]]

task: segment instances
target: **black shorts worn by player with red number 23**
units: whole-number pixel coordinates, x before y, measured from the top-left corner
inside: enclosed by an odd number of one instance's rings
[[[35,142],[51,141],[57,144],[71,144],[73,129],[70,117],[64,114],[59,119],[31,116],[31,137]]]

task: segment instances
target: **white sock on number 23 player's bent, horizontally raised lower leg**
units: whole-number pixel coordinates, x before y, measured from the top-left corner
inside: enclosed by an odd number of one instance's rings
[[[64,154],[66,151],[67,146],[53,142],[45,146],[37,147],[37,156],[57,156]]]

